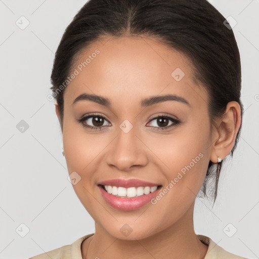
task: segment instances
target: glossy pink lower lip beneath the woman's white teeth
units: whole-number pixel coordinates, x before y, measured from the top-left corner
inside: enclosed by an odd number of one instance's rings
[[[150,200],[152,200],[161,189],[161,186],[158,187],[154,192],[149,194],[143,194],[134,198],[122,198],[116,197],[108,192],[106,192],[102,186],[98,186],[103,198],[110,204],[113,208],[119,210],[135,210],[144,205],[146,205]]]

